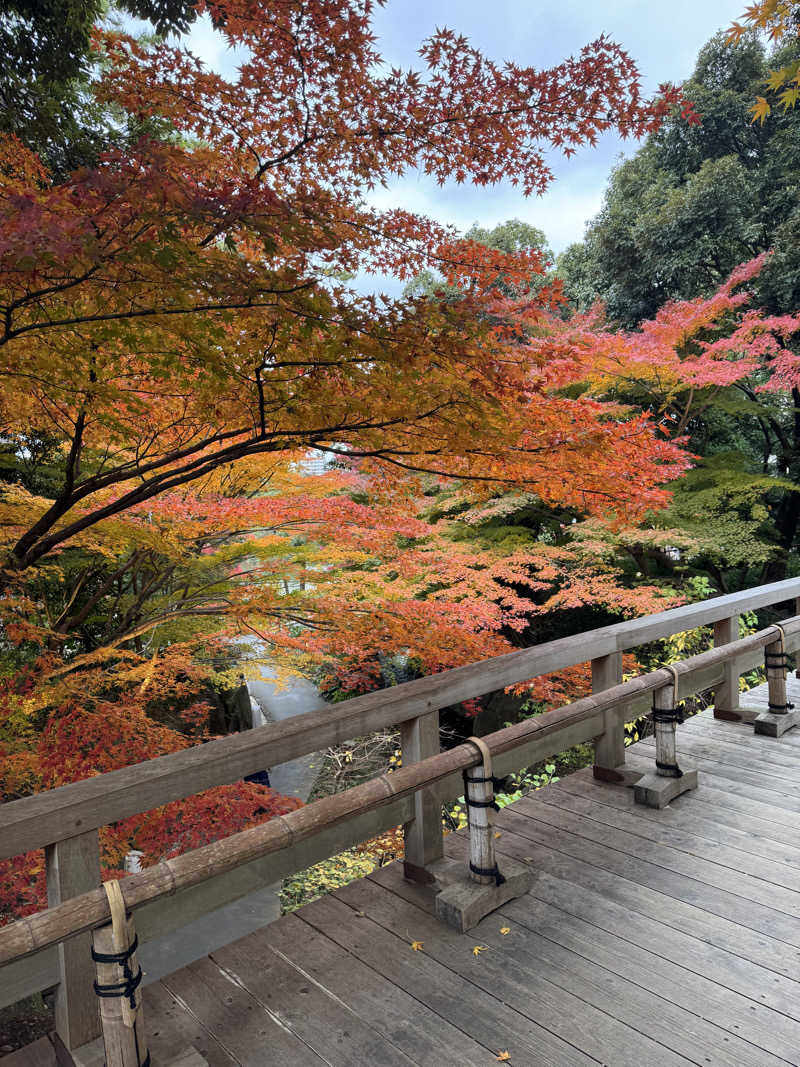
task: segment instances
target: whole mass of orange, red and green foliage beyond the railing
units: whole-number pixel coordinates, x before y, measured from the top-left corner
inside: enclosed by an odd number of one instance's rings
[[[4,22],[3,799],[205,739],[254,654],[341,696],[789,566],[800,111],[749,123],[763,52],[708,46],[698,126],[605,37],[541,71],[441,30],[387,69],[372,7],[125,5],[210,13],[229,77],[91,3]],[[609,129],[650,140],[558,274],[517,220],[368,201],[414,169],[541,191],[548,152]],[[370,271],[403,299],[359,296]],[[210,791],[108,828],[105,866],[293,802]],[[4,917],[43,892],[41,857],[2,869]]]

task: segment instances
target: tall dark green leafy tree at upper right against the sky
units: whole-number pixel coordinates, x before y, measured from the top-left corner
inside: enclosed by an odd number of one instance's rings
[[[770,65],[755,37],[731,47],[718,34],[685,86],[700,125],[675,114],[613,172],[586,238],[559,259],[573,304],[603,300],[633,328],[673,299],[719,285],[733,268],[768,249],[773,261],[757,302],[794,309],[800,287],[800,112],[751,122],[754,93]]]

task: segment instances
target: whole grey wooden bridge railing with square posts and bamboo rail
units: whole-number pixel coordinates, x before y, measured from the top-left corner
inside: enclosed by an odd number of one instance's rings
[[[763,649],[775,639],[774,630],[766,630],[738,640],[738,617],[777,605],[787,605],[794,616],[798,601],[800,579],[719,596],[418,679],[3,806],[0,859],[45,847],[49,907],[0,930],[0,1006],[54,987],[64,1045],[76,1048],[98,1034],[89,931],[109,915],[98,888],[99,827],[399,726],[402,769],[131,875],[123,883],[125,899],[137,911],[140,940],[153,940],[399,824],[405,825],[406,875],[426,880],[443,855],[441,805],[463,792],[462,771],[479,762],[470,745],[439,753],[442,707],[591,660],[592,696],[484,739],[500,775],[594,739],[595,774],[620,780],[625,721],[650,706],[654,690],[675,681],[662,669],[623,684],[622,653],[714,624],[716,648],[676,665],[675,699],[714,688],[716,713],[736,716],[739,675],[761,664]],[[787,623],[785,635],[787,650],[800,647],[800,621]]]

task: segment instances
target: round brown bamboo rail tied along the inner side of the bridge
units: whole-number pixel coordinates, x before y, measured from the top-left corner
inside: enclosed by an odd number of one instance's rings
[[[800,647],[800,617],[783,622],[782,626],[787,650]],[[559,751],[564,745],[566,731],[572,728],[596,722],[597,716],[608,710],[624,711],[631,700],[674,682],[677,683],[678,698],[689,696],[706,686],[709,674],[715,679],[721,676],[719,668],[733,657],[739,660],[743,669],[754,666],[761,659],[762,649],[774,639],[775,628],[770,626],[738,641],[691,656],[670,668],[662,667],[649,674],[641,674],[564,707],[507,727],[482,739],[489,746],[493,760],[509,753],[522,753],[534,738],[549,737],[553,751]],[[460,745],[402,767],[391,775],[381,775],[354,789],[272,818],[260,826],[163,860],[124,879],[122,885],[126,905],[133,911],[159,898],[190,889],[242,864],[289,848],[367,811],[380,809],[421,789],[443,783],[479,762],[480,757],[473,745]],[[498,762],[502,765],[501,759]],[[107,923],[109,915],[106,892],[95,889],[54,908],[20,919],[0,928],[0,966],[94,929]]]

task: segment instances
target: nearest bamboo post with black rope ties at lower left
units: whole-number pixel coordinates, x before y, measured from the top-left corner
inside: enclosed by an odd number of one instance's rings
[[[111,923],[93,931],[92,958],[97,971],[95,992],[100,998],[106,1067],[149,1067],[133,919],[125,907],[119,882],[107,881],[103,888]]]

